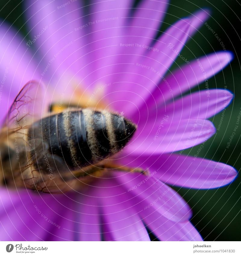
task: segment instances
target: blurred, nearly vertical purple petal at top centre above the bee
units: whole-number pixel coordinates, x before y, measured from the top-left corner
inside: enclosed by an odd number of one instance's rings
[[[125,17],[128,16],[132,4],[128,0],[114,0],[94,1],[90,6],[90,14],[86,17],[88,27],[84,29],[90,33],[88,47],[91,49],[89,55],[93,68],[88,77],[92,79],[92,88],[96,84],[113,82],[105,76],[117,64],[120,37],[125,30]]]

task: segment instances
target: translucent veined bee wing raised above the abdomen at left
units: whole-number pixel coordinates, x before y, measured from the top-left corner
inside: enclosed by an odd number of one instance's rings
[[[18,131],[34,121],[41,119],[43,99],[45,93],[44,84],[30,81],[24,85],[8,110],[4,126],[8,130]]]

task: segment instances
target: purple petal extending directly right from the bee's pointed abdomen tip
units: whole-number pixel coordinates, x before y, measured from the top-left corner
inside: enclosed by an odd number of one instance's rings
[[[137,131],[123,153],[128,156],[132,153],[152,154],[184,150],[208,140],[215,131],[209,120],[183,119],[176,123],[168,118],[154,127],[146,125],[142,131]]]

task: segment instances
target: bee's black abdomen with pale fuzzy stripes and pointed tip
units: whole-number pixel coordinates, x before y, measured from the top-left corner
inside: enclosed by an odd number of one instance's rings
[[[120,151],[136,126],[106,111],[76,109],[50,115],[29,128],[35,169],[65,173],[95,165]],[[46,160],[47,159],[47,160]],[[48,166],[46,164],[48,162]]]

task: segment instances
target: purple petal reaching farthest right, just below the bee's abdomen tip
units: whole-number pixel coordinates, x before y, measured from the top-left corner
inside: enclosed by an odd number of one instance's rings
[[[202,147],[199,149],[202,150]],[[157,172],[157,179],[187,188],[219,188],[232,182],[237,175],[236,170],[227,164],[180,154],[132,154],[119,162]]]

